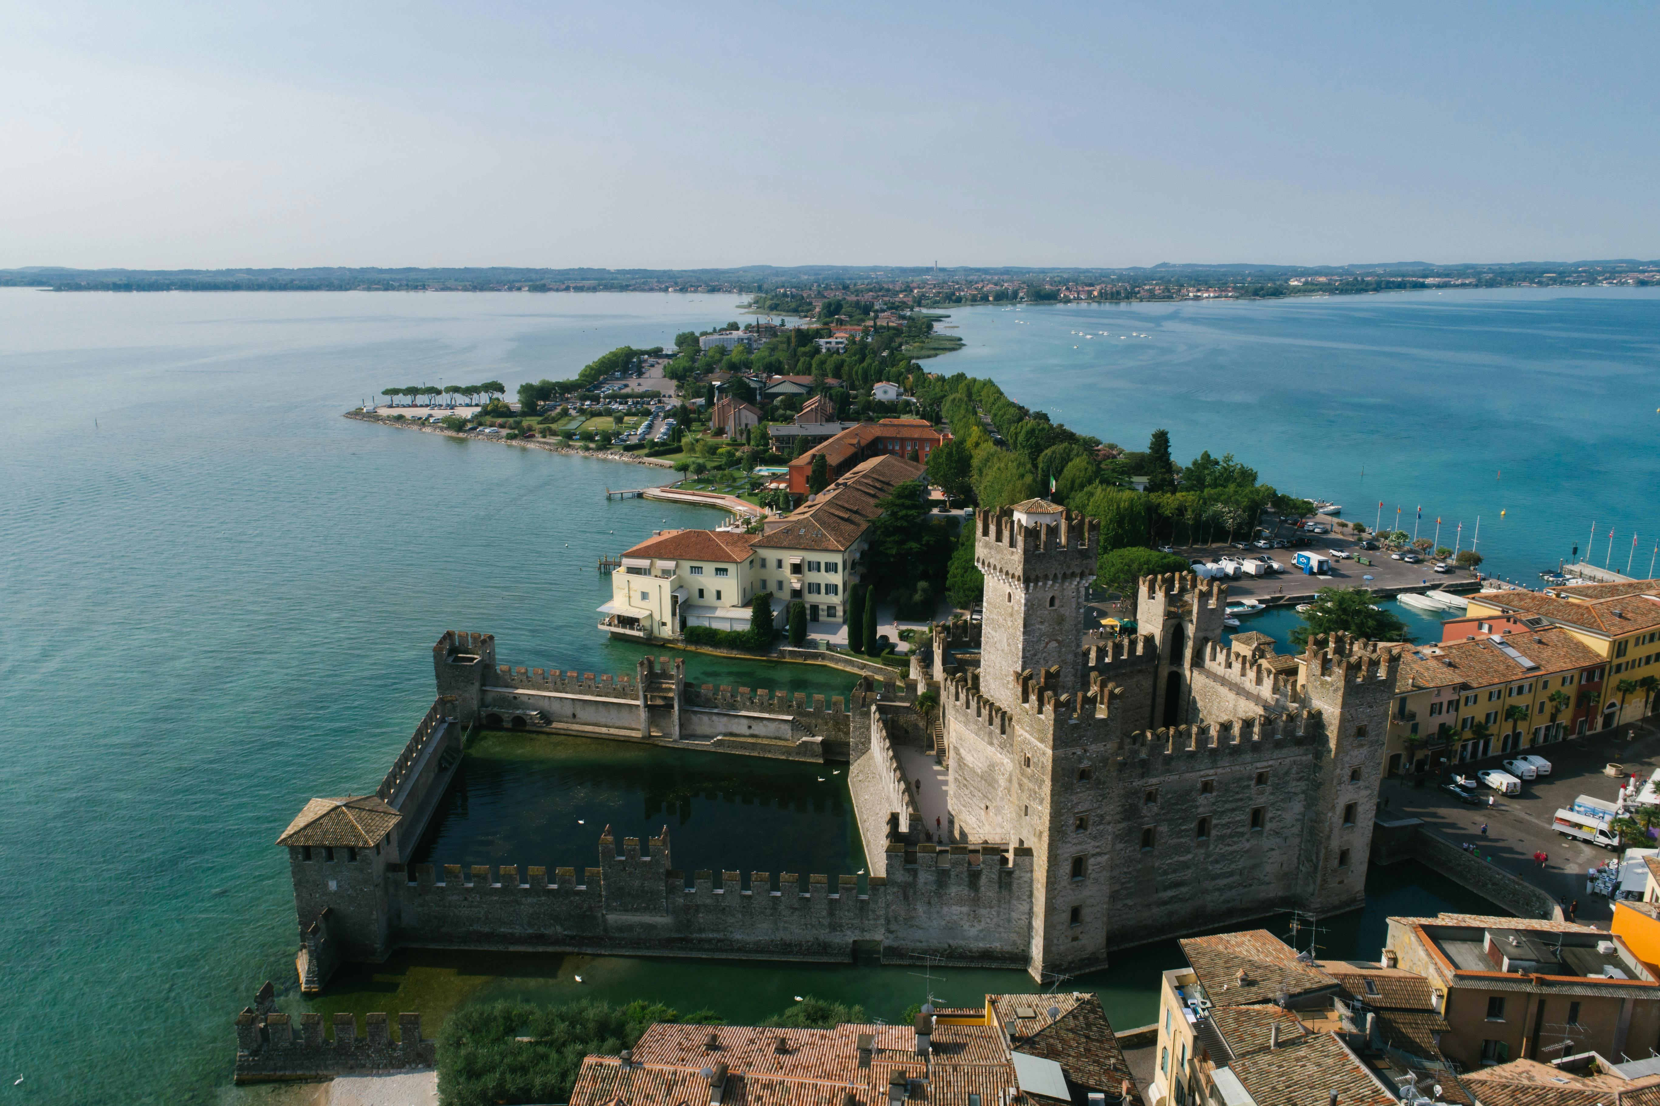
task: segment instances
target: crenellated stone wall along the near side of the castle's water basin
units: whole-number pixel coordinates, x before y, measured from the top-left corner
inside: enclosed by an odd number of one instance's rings
[[[531,865],[355,865],[329,869],[335,895],[385,903],[392,947],[586,952],[604,955],[699,955],[762,960],[848,962],[860,947],[885,958],[946,957],[954,963],[1024,965],[1031,908],[1031,854],[931,845],[888,857],[886,875],[858,878],[669,867],[667,832],[641,849],[611,835],[599,865],[549,870]],[[327,905],[327,903],[325,903]],[[344,920],[335,918],[339,935]],[[372,925],[350,922],[370,938]]]

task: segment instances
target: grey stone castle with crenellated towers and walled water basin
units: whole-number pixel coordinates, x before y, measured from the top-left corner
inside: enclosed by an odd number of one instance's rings
[[[1288,908],[1361,905],[1394,648],[1315,639],[1277,656],[1220,644],[1223,585],[1137,588],[1145,633],[1096,633],[1094,521],[1042,500],[976,520],[983,624],[940,624],[931,668],[847,699],[496,664],[490,634],[445,633],[438,696],[374,795],[312,799],[277,844],[294,882],[302,988],[395,947],[848,962],[916,957],[1106,967],[1114,948]],[[935,732],[916,711],[940,691]],[[870,877],[686,872],[669,834],[606,827],[598,864],[410,864],[480,727],[710,752],[847,761]],[[943,764],[935,840],[901,751]]]

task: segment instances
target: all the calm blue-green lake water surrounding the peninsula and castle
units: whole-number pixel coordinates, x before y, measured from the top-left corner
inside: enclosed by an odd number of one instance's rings
[[[1029,327],[1009,322],[1016,312],[961,311],[951,322],[969,344],[933,367],[993,375],[1104,438],[1139,445],[1169,427],[1184,458],[1232,450],[1267,480],[1345,505],[1381,498],[1374,480],[1389,497],[1424,495],[1426,515],[1462,510],[1464,497],[1466,521],[1482,511],[1482,550],[1514,556],[1516,571],[1554,563],[1550,543],[1570,543],[1592,511],[1622,535],[1660,531],[1647,422],[1660,405],[1660,297],[1444,299],[1054,307]],[[0,289],[13,407],[0,433],[0,1086],[23,1076],[13,1098],[27,1103],[226,1099],[232,1016],[262,980],[294,978],[272,842],[312,795],[378,782],[432,701],[437,636],[488,631],[503,661],[631,673],[641,649],[594,629],[609,598],[598,556],[719,518],[606,502],[606,487],[664,478],[651,468],[340,412],[388,385],[569,377],[616,345],[734,317],[735,301],[710,296]],[[1119,342],[1140,370],[1067,360],[1067,329],[1125,322],[1155,335],[1134,354]],[[1378,467],[1366,460],[1365,483],[1343,483],[1360,447]],[[1489,545],[1492,497],[1462,482],[1494,457],[1526,525]],[[1536,548],[1540,516],[1564,536]],[[822,694],[852,683],[696,654],[687,669],[697,683]],[[433,827],[438,862],[535,845],[559,854],[553,864],[588,864],[609,820],[624,835],[667,824],[687,869],[779,870],[759,857],[785,837],[805,870],[863,867],[842,777],[820,800],[817,779],[742,757],[476,752],[455,800],[465,812]],[[553,784],[530,804],[515,777]],[[1365,912],[1326,923],[1323,950],[1374,955],[1384,917],[1438,908],[1482,907],[1409,865],[1381,870]],[[1155,945],[1071,985],[1137,1025],[1177,957]],[[1016,971],[943,975],[931,986],[951,1003],[1031,988]],[[908,968],[408,953],[344,971],[317,1008],[435,1021],[471,998],[647,996],[747,1020],[812,990],[896,1018],[926,986]]]

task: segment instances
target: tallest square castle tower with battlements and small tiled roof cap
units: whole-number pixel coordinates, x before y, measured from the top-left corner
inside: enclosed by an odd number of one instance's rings
[[[1101,523],[1047,500],[978,518],[974,566],[986,576],[981,691],[1019,699],[1019,674],[1059,666],[1056,694],[1077,694],[1087,629],[1084,591],[1096,578]]]

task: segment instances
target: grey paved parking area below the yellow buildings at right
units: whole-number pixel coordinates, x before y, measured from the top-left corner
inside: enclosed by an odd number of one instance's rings
[[[1584,749],[1574,741],[1529,749],[1527,752],[1550,761],[1550,776],[1526,781],[1519,795],[1501,795],[1481,787],[1477,794],[1492,799],[1492,805],[1486,807],[1464,805],[1439,790],[1439,784],[1448,782],[1449,776],[1429,777],[1421,787],[1404,779],[1386,779],[1378,792],[1378,819],[1384,822],[1403,817],[1423,819],[1454,844],[1469,842],[1479,847],[1482,857],[1491,855],[1506,872],[1547,890],[1552,897],[1559,900],[1565,897],[1570,903],[1579,900],[1575,915],[1579,922],[1607,923],[1614,917],[1614,905],[1600,895],[1585,893],[1585,869],[1615,854],[1562,837],[1552,829],[1552,822],[1559,807],[1570,805],[1582,794],[1614,802],[1623,779],[1604,776],[1604,766],[1609,762],[1620,764],[1625,772],[1635,772],[1638,779],[1647,779],[1660,767],[1660,729],[1652,721],[1643,722],[1635,727],[1637,739],[1625,741],[1628,731],[1630,726],[1620,726],[1592,734],[1584,739]],[[1504,759],[1489,757],[1461,764],[1459,771],[1472,776],[1481,769],[1499,767]],[[1481,832],[1482,824],[1487,825],[1486,835]],[[1536,852],[1549,854],[1544,869],[1534,864]]]

